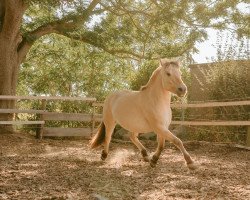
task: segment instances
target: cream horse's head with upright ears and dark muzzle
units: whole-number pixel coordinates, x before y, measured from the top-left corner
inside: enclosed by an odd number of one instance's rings
[[[177,94],[179,97],[185,96],[187,86],[181,79],[180,63],[167,59],[160,59],[162,84],[164,89]]]

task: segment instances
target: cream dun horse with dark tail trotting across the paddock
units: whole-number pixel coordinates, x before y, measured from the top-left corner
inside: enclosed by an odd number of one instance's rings
[[[104,149],[101,159],[105,160],[109,152],[111,136],[116,124],[130,133],[131,141],[141,152],[143,160],[155,167],[165,146],[165,140],[172,142],[183,154],[189,169],[196,165],[183,146],[182,141],[169,131],[172,120],[170,108],[171,93],[184,97],[187,86],[181,79],[180,62],[174,59],[160,59],[159,67],[152,73],[146,85],[139,91],[121,90],[110,94],[104,101],[103,120],[97,133],[90,141],[90,148],[101,144]],[[138,139],[139,133],[154,132],[158,146],[149,159],[146,148]]]

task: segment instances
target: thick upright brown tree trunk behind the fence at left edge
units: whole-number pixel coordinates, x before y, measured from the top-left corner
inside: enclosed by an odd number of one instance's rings
[[[0,95],[15,95],[21,59],[18,46],[25,5],[22,0],[0,2]],[[14,108],[13,100],[0,100],[0,109]],[[12,114],[1,114],[0,121],[12,120]],[[6,129],[1,126],[0,129]],[[2,131],[0,131],[1,133]]]

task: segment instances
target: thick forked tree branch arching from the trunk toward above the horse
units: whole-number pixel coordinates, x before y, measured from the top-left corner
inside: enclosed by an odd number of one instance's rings
[[[86,12],[84,12],[84,14],[82,14],[82,15],[67,16],[67,17],[64,17],[63,19],[53,21],[53,22],[48,23],[48,24],[44,24],[44,25],[38,27],[37,29],[29,32],[23,38],[23,41],[20,43],[20,45],[18,47],[20,62],[23,61],[23,59],[25,58],[27,52],[29,51],[29,49],[32,46],[34,41],[36,41],[41,36],[46,35],[46,34],[50,34],[50,33],[57,33],[57,34],[69,37],[71,39],[82,41],[86,44],[90,44],[91,46],[99,48],[100,50],[103,50],[111,55],[115,55],[115,56],[120,57],[120,58],[130,58],[130,59],[134,59],[134,60],[141,60],[141,59],[150,59],[151,60],[151,59],[158,59],[159,58],[158,56],[152,56],[151,54],[147,55],[145,53],[145,48],[146,48],[145,45],[146,44],[144,44],[143,52],[137,53],[133,50],[127,50],[124,48],[109,47],[108,45],[105,45],[102,42],[98,42],[98,40],[91,39],[91,37],[89,37],[89,35],[86,35],[86,34],[85,35],[84,34],[72,35],[71,32],[73,30],[77,29],[80,25],[82,25],[83,22],[85,22],[88,19],[88,17],[90,15],[95,13],[95,11],[93,11],[93,10],[99,2],[100,2],[100,0],[93,0],[90,3],[89,7],[86,9]],[[109,8],[107,8],[105,6],[104,9],[108,10]],[[123,8],[122,11],[127,12],[126,14],[128,14],[129,16],[132,14],[134,15],[134,14],[138,14],[138,13],[145,15],[144,11],[134,12],[131,10],[127,10],[125,8]],[[153,17],[152,13],[150,14],[150,17],[151,18]],[[153,22],[154,21],[155,20],[153,20]],[[152,22],[152,24],[154,24],[153,22]],[[152,26],[153,25],[150,26],[150,29],[152,28]],[[142,31],[142,32],[144,32],[144,31]],[[149,32],[146,36],[146,41],[149,37]],[[187,48],[187,49],[189,49],[189,48]],[[182,49],[180,52],[180,55],[185,53],[187,51],[187,49]]]

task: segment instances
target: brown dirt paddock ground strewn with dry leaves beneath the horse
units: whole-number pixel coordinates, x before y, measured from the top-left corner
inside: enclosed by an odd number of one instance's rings
[[[170,144],[156,168],[130,143],[111,143],[105,162],[87,144],[0,134],[0,199],[250,199],[250,151],[185,144],[200,165],[189,171]]]

